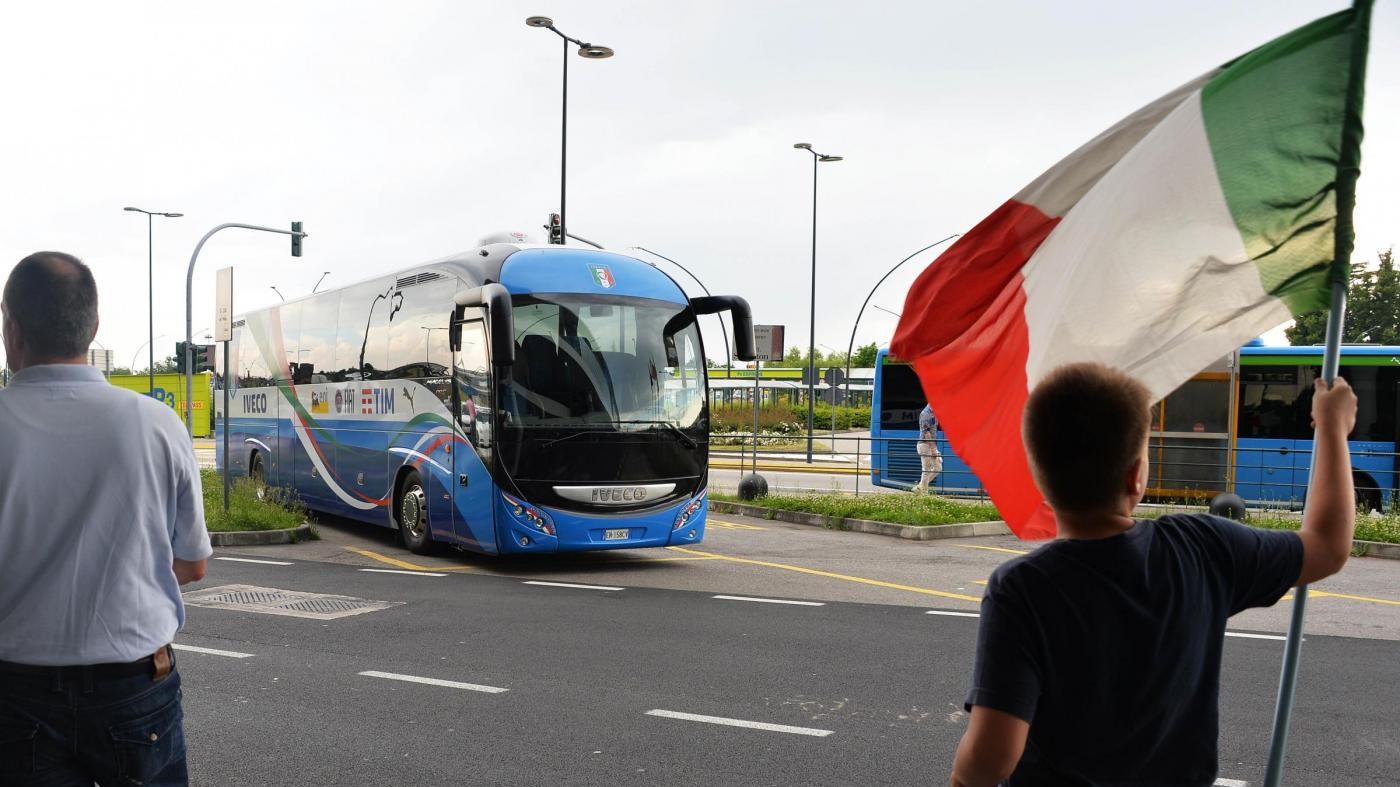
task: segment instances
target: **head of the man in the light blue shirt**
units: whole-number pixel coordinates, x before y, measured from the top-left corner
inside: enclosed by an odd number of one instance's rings
[[[84,356],[97,335],[97,281],[70,253],[35,252],[21,259],[4,284],[4,308],[39,360]]]

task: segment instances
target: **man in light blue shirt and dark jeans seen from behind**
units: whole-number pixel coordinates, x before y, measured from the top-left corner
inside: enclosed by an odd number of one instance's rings
[[[161,402],[87,365],[97,284],[20,262],[0,301],[0,786],[188,784],[179,585],[210,556],[195,451]]]

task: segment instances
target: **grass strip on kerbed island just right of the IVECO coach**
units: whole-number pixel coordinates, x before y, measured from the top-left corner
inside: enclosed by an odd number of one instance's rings
[[[745,503],[784,511],[804,511],[844,520],[872,520],[899,525],[956,525],[1001,520],[990,503],[966,503],[932,494],[770,494],[739,500],[734,494],[710,493],[714,500]]]

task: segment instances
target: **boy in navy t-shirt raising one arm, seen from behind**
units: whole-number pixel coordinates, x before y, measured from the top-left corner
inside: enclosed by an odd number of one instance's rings
[[[1134,520],[1149,408],[1141,384],[1100,364],[1032,391],[1022,436],[1058,538],[987,584],[955,787],[1212,784],[1226,619],[1345,564],[1357,398],[1344,379],[1316,384],[1299,532]]]

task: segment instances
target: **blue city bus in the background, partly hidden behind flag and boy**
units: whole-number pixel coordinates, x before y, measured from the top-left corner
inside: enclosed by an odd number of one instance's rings
[[[1257,342],[1221,358],[1154,405],[1151,500],[1210,500],[1233,492],[1252,506],[1302,507],[1312,458],[1313,379],[1322,347],[1267,347]],[[1357,391],[1357,429],[1348,438],[1357,501],[1394,508],[1400,485],[1400,347],[1344,344],[1341,377]],[[918,480],[914,452],[924,394],[913,367],[881,351],[871,408],[871,480],[909,489]],[[984,494],[948,444],[934,487]]]

